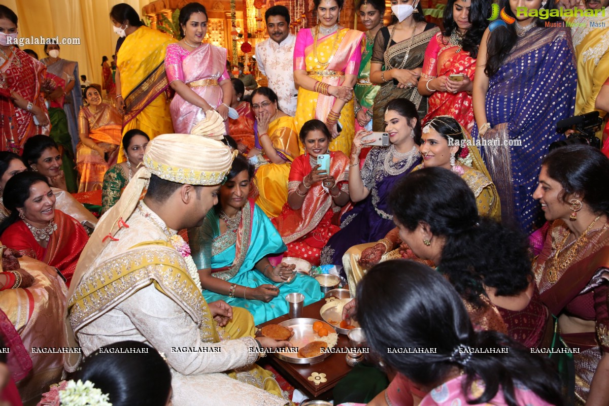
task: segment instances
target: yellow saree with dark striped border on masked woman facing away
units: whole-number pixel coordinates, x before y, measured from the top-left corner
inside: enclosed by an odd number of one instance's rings
[[[121,94],[125,100],[123,135],[138,128],[152,141],[160,134],[171,134],[174,126],[169,112],[166,91],[169,88],[165,72],[167,45],[175,43],[158,30],[142,26],[127,35],[116,54],[121,74]],[[122,145],[118,162],[124,161]]]

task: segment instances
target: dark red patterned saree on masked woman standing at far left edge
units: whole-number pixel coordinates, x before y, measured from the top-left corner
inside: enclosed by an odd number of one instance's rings
[[[40,91],[46,66],[16,47],[13,47],[9,60],[0,58],[0,61],[0,147],[2,151],[10,149],[20,155],[28,138],[37,134],[49,135],[51,127],[36,125],[32,113],[15,106],[10,92],[15,91],[32,101],[48,117]]]

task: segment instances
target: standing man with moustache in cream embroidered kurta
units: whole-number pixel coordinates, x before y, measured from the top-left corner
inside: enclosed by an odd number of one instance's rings
[[[293,68],[296,36],[290,34],[290,14],[283,5],[275,5],[264,13],[264,18],[269,38],[256,45],[258,70],[269,79],[280,110],[294,117],[298,98]]]

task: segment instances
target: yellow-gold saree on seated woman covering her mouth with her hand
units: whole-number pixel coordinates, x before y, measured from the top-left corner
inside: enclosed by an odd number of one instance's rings
[[[258,138],[257,122],[254,125],[254,132],[254,146],[257,149],[262,149]],[[287,201],[287,179],[290,176],[291,163],[300,155],[298,152],[298,133],[294,126],[294,117],[279,117],[270,122],[269,137],[273,142],[273,148],[275,148],[281,159],[284,160],[284,163],[267,163],[258,167],[258,170],[256,170],[256,186],[258,187],[259,195],[256,198],[256,205],[270,219],[273,219],[273,217],[280,215],[281,208]]]

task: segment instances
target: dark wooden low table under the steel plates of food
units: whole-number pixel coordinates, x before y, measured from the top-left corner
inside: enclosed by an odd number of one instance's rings
[[[326,303],[325,299],[321,299],[320,301],[309,304],[309,306],[303,307],[302,317],[323,320],[319,314],[319,310]],[[266,326],[267,324],[278,324],[289,319],[290,317],[286,314],[267,321],[259,327]],[[347,335],[339,334],[336,348],[349,346]],[[260,359],[258,363],[270,363],[270,365],[277,369],[285,379],[289,380],[295,388],[303,391],[311,399],[329,400],[332,398],[332,390],[336,386],[336,383],[351,371],[351,367],[348,366],[345,361],[346,355],[347,354],[345,353],[330,354],[325,360],[309,365],[285,362],[275,357],[275,355],[268,354],[266,357]],[[315,385],[311,380],[308,380],[308,377],[314,372],[326,374],[326,382]]]

